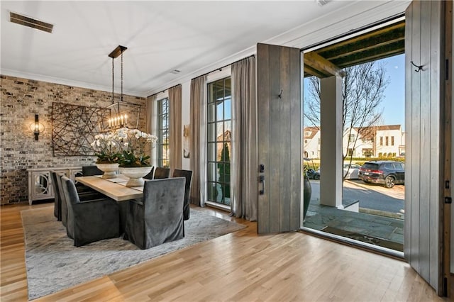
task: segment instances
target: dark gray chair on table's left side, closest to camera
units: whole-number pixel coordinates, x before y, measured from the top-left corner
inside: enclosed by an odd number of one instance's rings
[[[67,203],[67,235],[74,246],[120,236],[120,212],[114,199],[80,201],[74,182],[65,176],[61,179]]]

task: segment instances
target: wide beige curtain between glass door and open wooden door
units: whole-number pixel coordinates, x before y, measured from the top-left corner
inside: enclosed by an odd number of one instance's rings
[[[255,221],[258,215],[257,103],[255,57],[233,63],[232,214]]]

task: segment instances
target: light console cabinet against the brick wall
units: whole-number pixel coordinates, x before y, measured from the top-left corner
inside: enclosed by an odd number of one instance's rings
[[[38,168],[27,169],[28,172],[28,203],[33,201],[54,198],[52,188],[52,177],[50,171],[57,171],[65,174],[74,181],[74,178],[82,175],[82,167],[59,167],[59,168]]]

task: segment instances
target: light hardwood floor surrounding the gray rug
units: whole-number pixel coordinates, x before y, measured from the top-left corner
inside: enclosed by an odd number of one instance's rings
[[[1,206],[0,300],[27,301],[21,211]],[[257,224],[35,301],[448,301],[401,260]]]

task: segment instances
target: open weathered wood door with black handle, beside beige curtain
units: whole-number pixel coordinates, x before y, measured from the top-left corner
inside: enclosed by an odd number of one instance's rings
[[[297,48],[257,45],[259,234],[300,227],[300,60]]]

